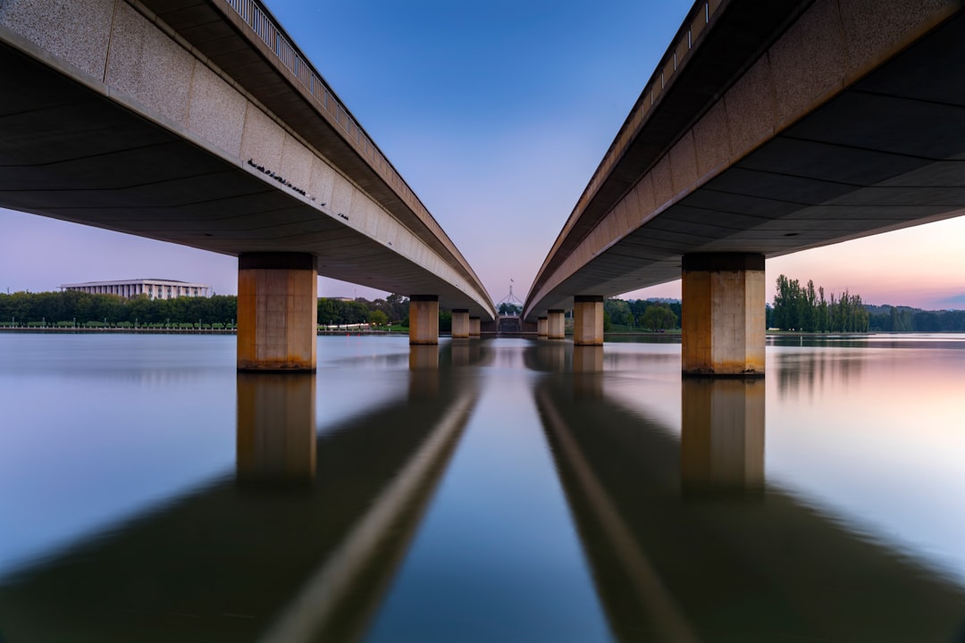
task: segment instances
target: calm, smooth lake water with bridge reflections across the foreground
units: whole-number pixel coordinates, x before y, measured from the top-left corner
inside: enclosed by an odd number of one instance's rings
[[[963,641],[965,337],[0,334],[0,641]]]

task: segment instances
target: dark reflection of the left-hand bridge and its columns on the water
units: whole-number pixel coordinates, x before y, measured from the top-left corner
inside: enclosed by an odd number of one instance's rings
[[[314,374],[237,375],[234,475],[9,576],[11,641],[352,641],[368,628],[477,400],[461,348],[317,435]]]

